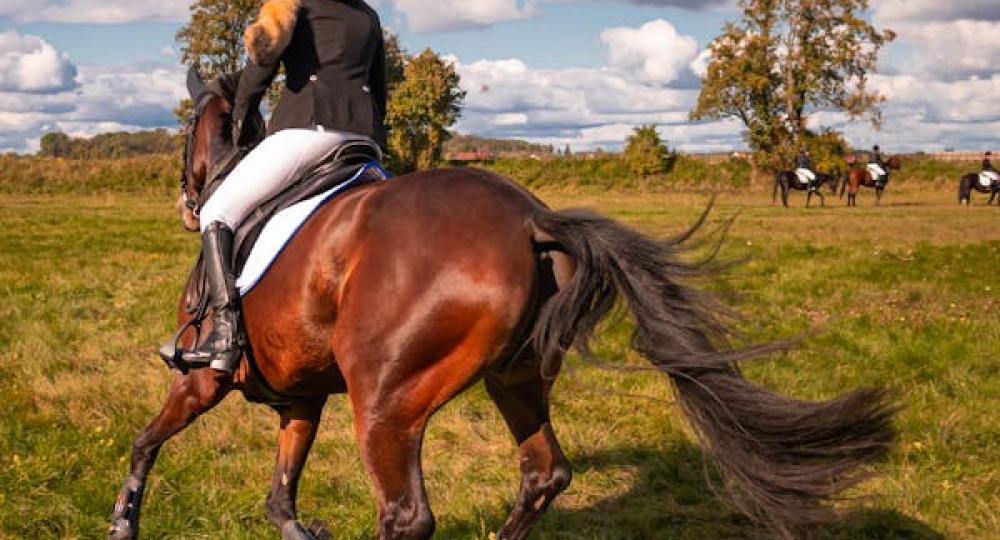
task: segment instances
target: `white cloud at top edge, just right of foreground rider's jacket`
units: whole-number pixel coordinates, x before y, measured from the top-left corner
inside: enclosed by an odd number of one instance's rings
[[[533,17],[535,0],[391,0],[414,32],[490,26]]]

